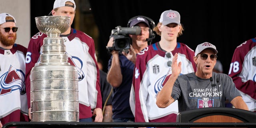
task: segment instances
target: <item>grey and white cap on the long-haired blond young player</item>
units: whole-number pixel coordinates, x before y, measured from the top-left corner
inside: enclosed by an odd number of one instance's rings
[[[176,23],[180,25],[180,14],[174,10],[166,10],[162,12],[159,22],[162,22],[163,25],[170,23]]]

